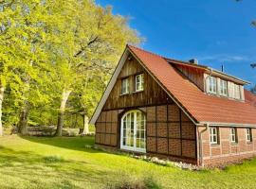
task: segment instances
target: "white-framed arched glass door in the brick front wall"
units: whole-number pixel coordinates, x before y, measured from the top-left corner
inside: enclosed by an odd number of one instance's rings
[[[126,112],[121,118],[120,148],[146,152],[146,117],[143,112]]]

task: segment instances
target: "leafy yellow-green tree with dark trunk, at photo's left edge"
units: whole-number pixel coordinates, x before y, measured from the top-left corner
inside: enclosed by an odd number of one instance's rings
[[[0,2],[0,118],[4,91],[9,87],[9,94],[15,98],[12,105],[19,107],[15,111],[20,112],[22,134],[26,134],[29,106],[43,96],[40,83],[47,80],[48,55],[44,51],[44,38],[46,26],[52,23],[52,16],[46,14],[47,6],[37,0]]]

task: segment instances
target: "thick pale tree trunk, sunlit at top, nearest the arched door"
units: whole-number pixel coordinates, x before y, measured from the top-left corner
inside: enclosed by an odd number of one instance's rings
[[[61,107],[60,111],[58,113],[58,124],[57,124],[57,130],[55,132],[55,136],[62,136],[63,135],[63,127],[64,127],[64,110],[65,110],[65,104],[68,99],[69,94],[71,91],[63,91],[62,94],[62,102],[61,102]]]

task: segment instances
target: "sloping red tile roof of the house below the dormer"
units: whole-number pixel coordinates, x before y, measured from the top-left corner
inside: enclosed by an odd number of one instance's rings
[[[256,107],[251,102],[255,96],[246,92],[246,101],[241,102],[205,94],[165,58],[131,45],[128,48],[195,122],[256,125]]]

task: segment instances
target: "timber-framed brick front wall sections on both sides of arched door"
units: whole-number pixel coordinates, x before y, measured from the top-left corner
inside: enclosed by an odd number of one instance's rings
[[[195,126],[176,105],[144,107],[140,110],[146,114],[147,153],[196,162]],[[96,144],[119,147],[119,118],[123,112],[101,112],[96,123]]]

